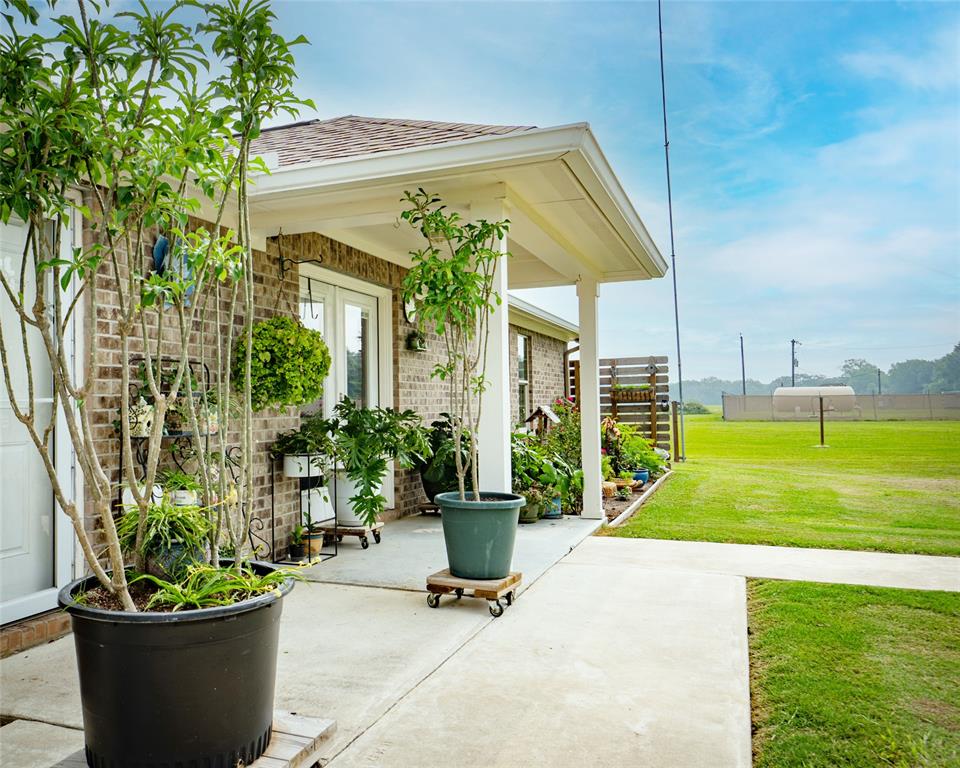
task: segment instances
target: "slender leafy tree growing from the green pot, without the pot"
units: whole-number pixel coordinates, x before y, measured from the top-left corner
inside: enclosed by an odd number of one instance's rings
[[[406,192],[404,202],[409,207],[401,217],[427,241],[425,248],[410,253],[413,265],[404,277],[404,301],[415,304],[420,327],[432,327],[443,341],[446,359],[432,375],[448,387],[460,498],[466,499],[469,476],[473,498],[479,501],[477,434],[487,388],[487,342],[490,319],[503,301],[494,278],[500,259],[509,256],[499,245],[510,222],[464,222],[422,188]]]

